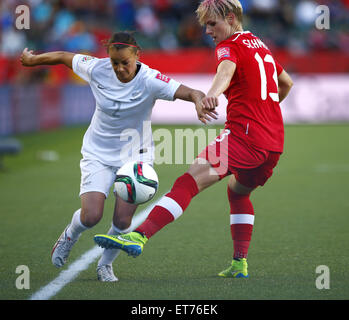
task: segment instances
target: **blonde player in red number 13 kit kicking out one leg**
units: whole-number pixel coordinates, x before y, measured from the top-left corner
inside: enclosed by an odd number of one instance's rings
[[[243,31],[243,11],[238,0],[204,0],[196,12],[216,44],[217,72],[202,104],[207,110],[214,110],[218,97],[225,95],[225,129],[175,181],[135,232],[120,237],[96,235],[95,241],[137,256],[146,241],[177,219],[195,195],[229,176],[227,192],[234,250],[231,266],[219,276],[246,278],[254,224],[250,194],[271,177],[283,152],[279,103],[289,93],[292,80],[268,47],[251,32]]]

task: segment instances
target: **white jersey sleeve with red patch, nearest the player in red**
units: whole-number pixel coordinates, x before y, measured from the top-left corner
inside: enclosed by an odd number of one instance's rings
[[[152,70],[150,81],[155,99],[169,101],[174,100],[174,95],[181,85],[176,80],[171,79],[157,70]]]

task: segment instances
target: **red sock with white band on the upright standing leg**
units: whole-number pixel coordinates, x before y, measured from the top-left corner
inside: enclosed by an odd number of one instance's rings
[[[249,194],[238,194],[228,187],[230,230],[234,241],[234,258],[247,258],[254,223],[254,210]]]

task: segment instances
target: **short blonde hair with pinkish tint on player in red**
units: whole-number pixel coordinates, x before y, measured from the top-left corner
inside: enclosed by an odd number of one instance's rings
[[[203,0],[196,10],[201,25],[205,24],[207,18],[225,19],[229,13],[234,13],[238,22],[242,24],[243,11],[239,0]]]

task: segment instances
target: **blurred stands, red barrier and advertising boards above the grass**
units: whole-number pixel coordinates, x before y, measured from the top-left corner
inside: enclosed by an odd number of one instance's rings
[[[19,4],[30,8],[29,30],[15,27]],[[18,57],[25,47],[105,57],[101,41],[113,31],[133,30],[143,48],[141,61],[207,90],[215,72],[214,46],[197,23],[197,5],[188,0],[1,1],[0,135],[88,123],[94,110],[88,86],[64,66],[21,67]],[[242,5],[244,29],[259,35],[295,78],[282,105],[285,122],[348,121],[349,1],[243,0]],[[330,10],[328,30],[315,27],[319,5]],[[162,104],[155,108],[155,123],[198,123],[185,103]],[[224,103],[219,113],[222,122]]]

